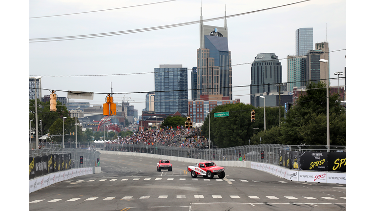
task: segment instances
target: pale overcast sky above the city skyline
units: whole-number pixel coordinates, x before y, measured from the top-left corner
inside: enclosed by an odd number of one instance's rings
[[[225,10],[227,16],[230,16],[298,1],[202,0],[203,19],[223,17]],[[148,5],[137,6],[142,4]],[[120,7],[128,8],[114,9]],[[105,11],[91,12],[97,10]],[[199,21],[200,12],[200,0],[30,1],[30,39]],[[71,13],[80,14],[64,15]],[[224,20],[208,21],[205,24],[223,27]],[[330,77],[335,77],[334,72],[344,71],[345,0],[310,0],[227,18],[227,25],[233,86],[250,85],[250,63],[258,53],[275,53],[282,63],[282,81],[287,82],[285,58],[295,54],[295,30],[302,27],[313,28],[314,43],[327,41],[330,51],[337,51],[330,54]],[[191,88],[191,68],[197,65],[199,23],[99,38],[30,42],[29,47],[29,75],[42,76],[43,89],[62,90],[57,92],[60,97],[66,97],[67,93],[63,91],[67,90],[104,93],[94,94],[94,100],[90,101],[90,105],[103,105],[105,93],[111,92],[112,83],[113,93],[124,93],[114,94],[114,101],[120,103],[125,99],[141,114],[145,108],[146,93],[127,93],[153,91],[154,68],[160,64],[182,64],[187,67],[188,88]],[[337,79],[331,80],[331,85],[337,85]],[[42,96],[49,94],[48,90],[42,91]],[[188,94],[190,98],[191,92]],[[250,103],[249,94],[249,87],[233,88],[233,99],[240,98],[243,103]]]

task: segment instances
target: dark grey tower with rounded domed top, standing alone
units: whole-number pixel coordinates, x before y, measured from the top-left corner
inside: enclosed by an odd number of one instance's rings
[[[281,63],[274,53],[260,53],[251,64],[250,103],[255,104],[259,95],[278,94],[282,82]]]

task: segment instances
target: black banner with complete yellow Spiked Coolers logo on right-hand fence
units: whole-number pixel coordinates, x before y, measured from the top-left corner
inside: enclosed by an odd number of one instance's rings
[[[299,170],[328,171],[327,152],[301,152]]]

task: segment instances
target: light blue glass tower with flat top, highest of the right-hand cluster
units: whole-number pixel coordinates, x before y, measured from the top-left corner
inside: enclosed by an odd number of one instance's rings
[[[295,55],[304,56],[313,49],[312,28],[295,30]]]

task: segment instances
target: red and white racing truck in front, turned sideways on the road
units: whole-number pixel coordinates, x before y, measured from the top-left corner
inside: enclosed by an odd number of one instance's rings
[[[216,166],[212,161],[197,163],[194,166],[188,166],[187,170],[191,177],[196,178],[198,175],[212,179],[214,175],[219,176],[220,179],[225,177],[224,167]]]

